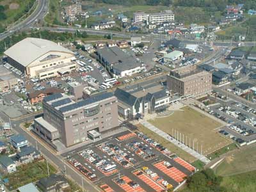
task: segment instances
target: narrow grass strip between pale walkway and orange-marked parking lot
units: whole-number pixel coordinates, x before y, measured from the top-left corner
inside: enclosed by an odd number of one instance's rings
[[[165,140],[164,138],[162,138],[161,136],[159,136],[155,132],[150,131],[149,129],[147,129],[147,127],[144,127],[141,124],[137,124],[136,126],[138,127],[138,130],[140,132],[143,132],[148,137],[152,138],[153,140],[157,141],[158,143],[161,143],[161,145],[168,148],[168,150],[170,150],[174,154],[177,154],[177,156],[184,159],[185,161],[188,161],[189,163],[191,163],[191,162],[196,160],[195,157],[191,156],[190,154],[188,154],[187,152],[185,152],[181,148],[177,147],[176,145],[174,145],[170,141]]]

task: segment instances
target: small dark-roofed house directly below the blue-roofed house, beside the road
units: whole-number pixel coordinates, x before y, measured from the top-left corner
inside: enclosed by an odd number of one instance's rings
[[[17,153],[17,159],[22,164],[31,163],[40,157],[40,152],[32,146],[20,148],[20,152]]]

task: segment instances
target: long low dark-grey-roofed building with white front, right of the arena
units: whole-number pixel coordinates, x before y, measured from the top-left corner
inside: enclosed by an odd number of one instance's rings
[[[97,50],[97,60],[114,76],[132,76],[145,70],[145,66],[119,47],[104,47]]]

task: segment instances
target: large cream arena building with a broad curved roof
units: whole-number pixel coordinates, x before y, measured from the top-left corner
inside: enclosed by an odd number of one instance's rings
[[[68,49],[40,38],[25,38],[7,49],[7,61],[28,77],[45,79],[76,70],[74,53]]]

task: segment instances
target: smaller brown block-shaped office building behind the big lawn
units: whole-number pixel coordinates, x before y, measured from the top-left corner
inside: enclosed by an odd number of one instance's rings
[[[180,95],[198,97],[212,90],[212,74],[196,65],[177,68],[167,76],[167,87]]]

